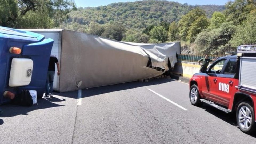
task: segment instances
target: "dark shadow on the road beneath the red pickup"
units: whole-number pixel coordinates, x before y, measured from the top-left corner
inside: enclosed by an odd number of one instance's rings
[[[215,117],[218,117],[219,119],[229,123],[230,125],[233,125],[235,127],[239,129],[236,119],[235,119],[235,114],[231,113],[231,114],[226,114],[220,110],[217,110],[216,108],[209,106],[207,104],[203,104],[202,106],[200,106],[202,109],[204,109],[205,111],[207,111],[208,113],[214,115]],[[242,132],[242,131],[241,131]],[[250,136],[256,138],[256,133],[255,134],[250,134]]]

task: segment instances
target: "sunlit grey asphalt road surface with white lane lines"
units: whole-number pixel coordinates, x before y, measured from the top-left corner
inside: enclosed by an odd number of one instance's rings
[[[0,143],[256,143],[234,115],[189,101],[189,85],[151,79],[2,105]]]

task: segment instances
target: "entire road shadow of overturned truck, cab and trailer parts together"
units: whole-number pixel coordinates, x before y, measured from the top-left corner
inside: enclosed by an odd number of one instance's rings
[[[172,79],[168,78],[162,78],[162,79],[151,79],[149,82],[128,82],[128,83],[122,83],[122,84],[116,84],[116,85],[109,85],[109,86],[102,86],[102,87],[95,87],[90,89],[83,89],[82,90],[82,97],[90,97],[93,95],[99,95],[104,93],[110,93],[113,91],[120,91],[120,90],[126,90],[126,89],[133,89],[136,87],[143,87],[143,86],[149,86],[149,85],[157,85],[161,83],[167,83],[174,81]],[[62,97],[68,97],[68,98],[74,98],[77,99],[77,92],[78,91],[70,91],[65,93],[53,93],[54,95],[59,95]],[[24,106],[18,106],[13,105],[11,103],[5,104],[1,106],[1,109],[3,110],[2,115],[0,117],[13,117],[16,115],[28,115],[28,112],[38,110],[38,109],[46,109],[51,107],[59,107],[64,105],[58,105],[53,102],[61,102],[66,101],[66,99],[59,99],[57,97],[53,98],[43,98],[43,99],[37,99],[37,105],[33,105],[30,107],[24,107]],[[3,120],[0,119],[0,125],[3,124]]]

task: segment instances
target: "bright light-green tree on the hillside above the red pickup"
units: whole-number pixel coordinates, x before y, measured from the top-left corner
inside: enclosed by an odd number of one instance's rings
[[[223,22],[225,22],[226,18],[225,18],[225,15],[222,14],[221,12],[217,12],[215,11],[213,13],[213,16],[211,18],[211,23],[210,23],[210,26],[209,28],[210,29],[216,29],[216,28],[219,28],[221,26],[221,24]]]

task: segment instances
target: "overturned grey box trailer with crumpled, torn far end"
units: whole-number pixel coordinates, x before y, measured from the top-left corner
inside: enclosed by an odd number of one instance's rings
[[[177,62],[180,43],[120,42],[66,29],[26,29],[54,39],[51,54],[59,59],[59,92],[112,85],[162,75]]]

